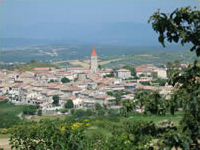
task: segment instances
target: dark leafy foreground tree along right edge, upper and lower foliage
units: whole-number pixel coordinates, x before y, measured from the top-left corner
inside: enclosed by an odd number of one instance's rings
[[[154,13],[149,22],[159,33],[159,42],[165,46],[169,42],[192,43],[190,51],[200,56],[200,11],[190,7],[176,9],[167,15],[159,11]],[[184,70],[176,70],[170,76],[170,84],[178,91],[184,91],[182,100],[184,115],[177,131],[169,131],[161,141],[161,148],[200,149],[200,63],[195,61]],[[177,97],[183,97],[177,95]]]

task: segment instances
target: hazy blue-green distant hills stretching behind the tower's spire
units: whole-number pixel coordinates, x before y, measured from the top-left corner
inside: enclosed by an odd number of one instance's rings
[[[56,62],[72,59],[88,59],[90,58],[92,45],[47,45],[47,46],[26,46],[4,48],[1,51],[1,62],[30,62],[34,59],[38,62]],[[189,45],[182,46],[109,46],[95,45],[96,52],[99,57],[110,57],[128,54],[144,54],[144,53],[168,53],[180,54],[188,52]]]

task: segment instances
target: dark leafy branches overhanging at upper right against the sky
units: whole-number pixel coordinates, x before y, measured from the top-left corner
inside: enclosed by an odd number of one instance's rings
[[[165,39],[182,45],[192,43],[190,51],[200,56],[200,11],[191,7],[182,7],[171,14],[160,13],[158,10],[150,18],[153,29],[159,33],[158,40],[165,47]]]

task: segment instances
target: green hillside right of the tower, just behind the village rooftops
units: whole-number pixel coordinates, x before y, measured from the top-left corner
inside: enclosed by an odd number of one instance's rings
[[[112,60],[113,57],[106,57],[107,59]],[[193,62],[197,57],[194,53],[181,51],[180,53],[174,53],[169,51],[158,51],[154,53],[145,53],[145,54],[134,54],[134,55],[120,55],[115,56],[114,58],[119,59],[116,61],[111,61],[108,64],[102,65],[103,68],[122,68],[125,65],[136,67],[141,64],[153,64],[157,67],[166,65],[168,62],[174,62],[179,60],[180,63],[188,64]],[[103,59],[103,58],[102,58]],[[104,60],[104,59],[103,59]]]

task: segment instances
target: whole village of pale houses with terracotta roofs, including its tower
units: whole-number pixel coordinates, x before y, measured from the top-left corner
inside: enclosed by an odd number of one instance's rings
[[[137,66],[136,78],[127,69],[101,69],[95,47],[92,47],[90,68],[35,68],[33,71],[1,70],[0,99],[15,104],[38,105],[42,110],[62,109],[71,99],[75,109],[94,109],[96,103],[104,107],[119,107],[109,92],[123,91],[122,99],[134,99],[137,90],[158,90],[170,96],[172,87],[144,85],[153,83],[155,76],[167,79],[166,69],[152,64]],[[59,97],[59,105],[53,105],[53,97]]]

